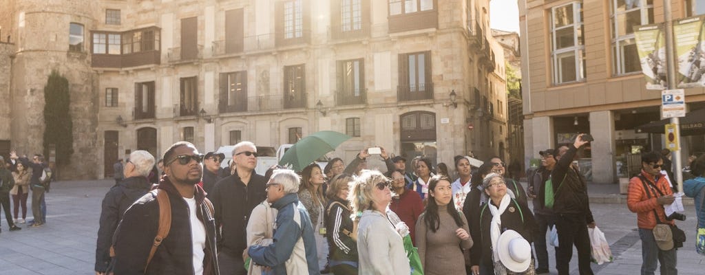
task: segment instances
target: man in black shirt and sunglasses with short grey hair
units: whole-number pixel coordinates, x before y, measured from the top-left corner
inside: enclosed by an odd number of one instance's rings
[[[208,194],[215,207],[216,226],[221,229],[218,255],[223,274],[245,274],[243,251],[247,248],[245,228],[252,209],[266,198],[266,181],[255,172],[257,147],[243,141],[233,148],[235,169],[218,181]]]

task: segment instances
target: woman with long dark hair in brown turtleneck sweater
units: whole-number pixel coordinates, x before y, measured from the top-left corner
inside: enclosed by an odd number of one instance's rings
[[[450,179],[429,179],[429,201],[416,222],[416,245],[424,274],[465,275],[462,249],[472,247],[467,220],[455,210]]]

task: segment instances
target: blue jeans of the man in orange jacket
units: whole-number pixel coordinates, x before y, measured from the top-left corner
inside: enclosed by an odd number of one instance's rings
[[[661,263],[661,275],[678,274],[675,268],[677,263],[677,249],[661,250],[656,245],[654,232],[651,229],[639,229],[639,238],[642,239],[642,275],[654,275],[656,260]]]

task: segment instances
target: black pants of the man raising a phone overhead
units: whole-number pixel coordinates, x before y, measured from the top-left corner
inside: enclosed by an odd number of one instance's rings
[[[559,275],[570,274],[572,247],[577,248],[577,266],[580,275],[592,275],[590,268],[590,237],[587,235],[585,215],[557,214],[558,248],[556,248],[556,269]]]

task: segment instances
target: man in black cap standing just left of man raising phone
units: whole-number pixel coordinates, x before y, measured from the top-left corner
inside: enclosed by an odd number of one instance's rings
[[[540,151],[541,167],[529,177],[529,188],[527,196],[534,200],[534,217],[536,218],[539,234],[534,240],[536,250],[537,268],[536,274],[548,273],[548,251],[546,250],[546,230],[553,228],[553,209],[544,205],[544,193],[546,181],[551,179],[551,171],[556,167],[556,159],[553,158],[553,149]]]

